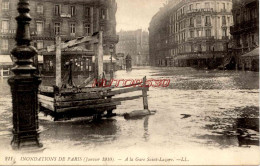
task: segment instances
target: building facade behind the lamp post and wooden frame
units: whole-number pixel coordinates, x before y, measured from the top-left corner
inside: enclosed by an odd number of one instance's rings
[[[1,56],[9,56],[15,45],[17,3],[18,0],[0,0]],[[111,47],[115,53],[116,10],[115,0],[30,0],[32,44],[41,49],[53,45],[56,35],[66,41],[103,31],[104,54],[109,55]],[[43,59],[43,70],[54,70],[54,64]]]

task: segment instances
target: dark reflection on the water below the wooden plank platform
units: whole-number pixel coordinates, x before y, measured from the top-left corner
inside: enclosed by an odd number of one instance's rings
[[[83,144],[93,142],[115,141],[120,132],[115,119],[75,120],[69,122],[40,121],[46,128],[41,137],[46,140],[81,141]]]

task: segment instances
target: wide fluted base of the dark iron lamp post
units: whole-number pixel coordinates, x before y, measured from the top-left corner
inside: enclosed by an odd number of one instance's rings
[[[37,76],[8,80],[13,100],[13,139],[14,150],[41,148],[38,126],[38,86],[41,80]]]

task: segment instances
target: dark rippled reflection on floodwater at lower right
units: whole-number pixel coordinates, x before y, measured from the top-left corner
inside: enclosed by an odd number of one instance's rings
[[[259,146],[259,108],[241,107],[212,114],[205,119],[209,133],[197,138],[221,148],[230,146]]]

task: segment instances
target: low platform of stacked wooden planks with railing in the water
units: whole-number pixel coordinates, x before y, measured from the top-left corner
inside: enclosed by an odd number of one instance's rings
[[[74,87],[58,88],[57,86],[41,86],[39,88],[40,111],[54,117],[54,120],[64,117],[81,117],[102,115],[104,112],[112,113],[121,101],[143,98],[144,109],[148,109],[147,91],[149,87],[144,83],[128,85],[125,87]],[[140,86],[141,85],[141,86]],[[115,97],[116,95],[142,91],[141,95],[128,97]]]

